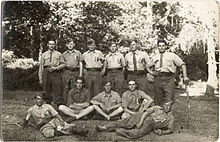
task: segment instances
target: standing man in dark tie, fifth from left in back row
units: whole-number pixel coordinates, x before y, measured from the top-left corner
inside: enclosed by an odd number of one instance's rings
[[[149,94],[149,91],[146,89],[146,70],[152,72],[148,67],[150,59],[147,54],[139,51],[137,48],[137,40],[133,40],[130,44],[130,52],[125,55],[128,73],[127,80],[136,80],[138,89]]]

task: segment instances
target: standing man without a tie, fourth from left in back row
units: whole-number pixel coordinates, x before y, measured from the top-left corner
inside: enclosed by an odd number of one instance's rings
[[[117,45],[112,43],[110,46],[110,53],[106,55],[102,74],[107,71],[107,80],[112,82],[112,90],[118,92],[120,95],[123,93],[123,83],[125,71],[125,58],[117,52]]]

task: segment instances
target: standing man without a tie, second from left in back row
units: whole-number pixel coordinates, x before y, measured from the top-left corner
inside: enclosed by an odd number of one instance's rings
[[[82,54],[74,48],[75,43],[73,40],[70,40],[67,43],[67,51],[63,53],[65,67],[62,75],[62,83],[65,104],[67,102],[68,92],[74,87],[76,78],[82,77]]]

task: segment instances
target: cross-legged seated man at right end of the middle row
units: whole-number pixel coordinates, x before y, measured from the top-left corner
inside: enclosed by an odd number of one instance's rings
[[[128,81],[128,91],[122,95],[122,107],[124,113],[122,119],[126,119],[136,112],[143,112],[153,103],[153,99],[145,92],[137,89],[136,81]]]

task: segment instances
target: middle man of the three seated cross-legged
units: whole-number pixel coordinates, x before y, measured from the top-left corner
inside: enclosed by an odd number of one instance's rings
[[[111,90],[111,82],[105,81],[104,91],[93,97],[91,103],[94,109],[107,120],[123,112],[121,97]]]

